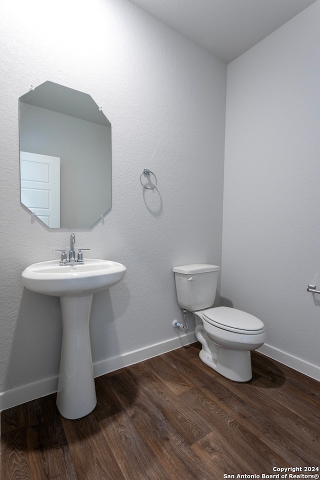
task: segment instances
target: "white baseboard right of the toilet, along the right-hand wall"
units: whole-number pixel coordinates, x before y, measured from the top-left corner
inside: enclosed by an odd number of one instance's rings
[[[269,358],[273,358],[273,360],[277,360],[284,365],[293,368],[294,370],[300,371],[304,373],[304,375],[310,376],[315,380],[320,381],[320,367],[313,365],[312,363],[308,363],[305,360],[301,360],[301,358],[297,358],[285,351],[279,350],[278,348],[274,348],[271,345],[267,345],[264,343],[260,348],[257,349],[263,355],[268,356]]]

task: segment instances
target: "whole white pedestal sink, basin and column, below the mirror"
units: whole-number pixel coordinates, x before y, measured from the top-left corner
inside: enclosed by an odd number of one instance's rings
[[[56,404],[62,416],[81,418],[96,404],[89,318],[93,294],[118,283],[121,263],[87,258],[59,265],[59,260],[33,263],[22,272],[29,290],[60,297],[62,346]]]

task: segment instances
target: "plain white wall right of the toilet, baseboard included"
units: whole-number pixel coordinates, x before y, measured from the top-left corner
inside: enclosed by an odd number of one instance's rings
[[[319,44],[316,1],[228,65],[221,276],[262,351],[318,379]]]

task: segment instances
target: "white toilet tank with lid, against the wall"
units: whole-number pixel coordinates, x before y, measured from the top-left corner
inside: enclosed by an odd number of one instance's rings
[[[212,306],[219,269],[217,265],[206,263],[174,266],[172,270],[179,306],[189,311]]]

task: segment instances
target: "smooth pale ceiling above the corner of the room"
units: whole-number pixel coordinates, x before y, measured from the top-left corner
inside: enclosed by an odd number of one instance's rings
[[[130,0],[225,63],[315,0]]]

